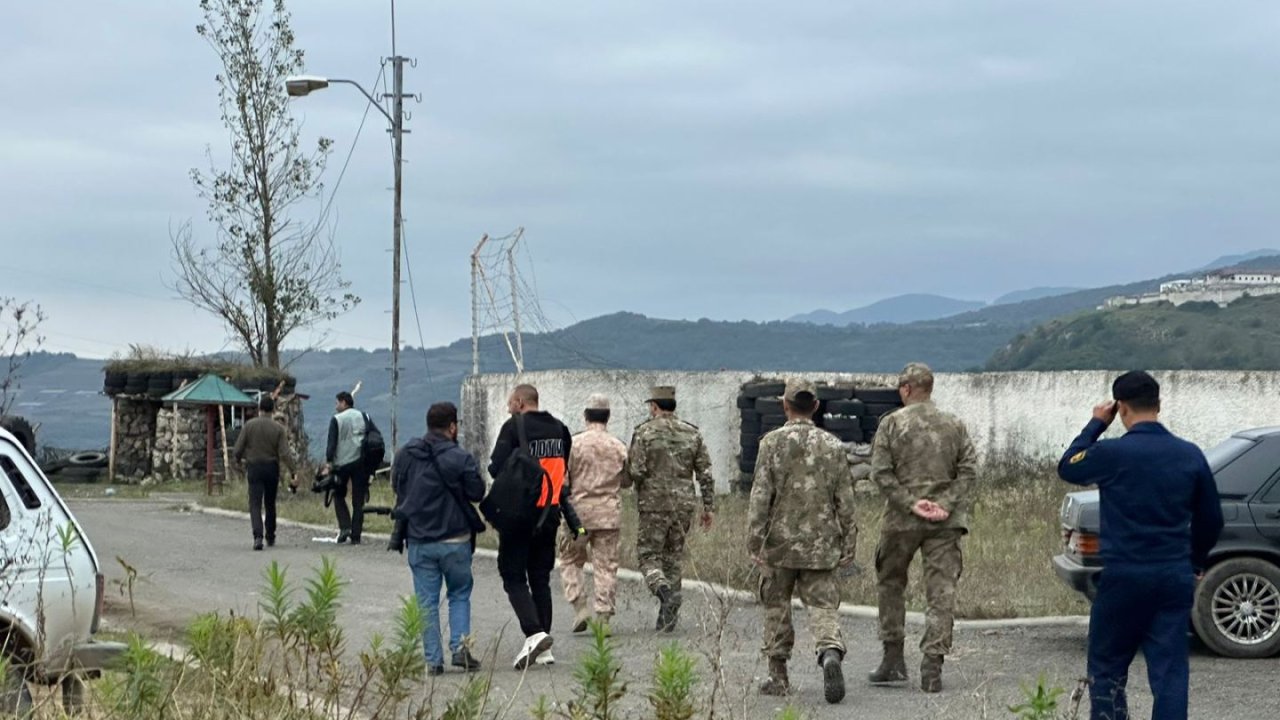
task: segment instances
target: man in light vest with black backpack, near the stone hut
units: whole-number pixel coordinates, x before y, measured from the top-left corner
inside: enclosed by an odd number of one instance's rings
[[[370,448],[370,437],[376,436],[379,448]],[[329,445],[325,450],[324,473],[333,473],[338,486],[333,489],[333,511],[338,516],[338,542],[348,539],[360,544],[365,527],[365,501],[369,500],[369,477],[381,461],[381,433],[369,415],[356,410],[356,398],[349,392],[338,393],[338,405],[329,420]],[[376,455],[376,460],[371,456]],[[370,466],[372,465],[372,466]],[[347,486],[351,486],[351,509],[347,509]]]

